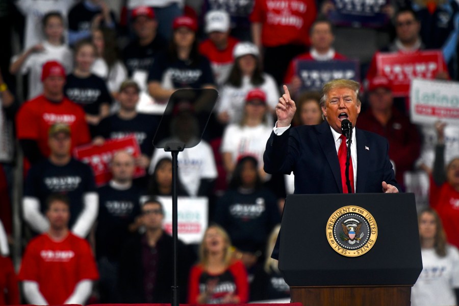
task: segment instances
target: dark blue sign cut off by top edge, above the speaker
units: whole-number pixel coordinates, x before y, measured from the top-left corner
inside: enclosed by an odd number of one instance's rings
[[[333,0],[336,10],[328,13],[335,25],[381,28],[389,21],[382,7],[387,0]]]

